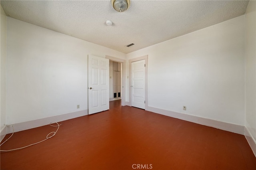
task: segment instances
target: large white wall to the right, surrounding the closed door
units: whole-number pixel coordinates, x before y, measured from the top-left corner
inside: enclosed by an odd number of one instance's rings
[[[148,106],[244,126],[244,19],[128,53],[148,55]]]

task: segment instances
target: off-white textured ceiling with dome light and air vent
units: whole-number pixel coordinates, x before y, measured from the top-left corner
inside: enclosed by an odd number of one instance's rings
[[[248,1],[131,0],[125,12],[115,11],[110,0],[1,0],[1,5],[12,18],[130,53],[243,15]],[[125,47],[130,43],[135,45]]]

